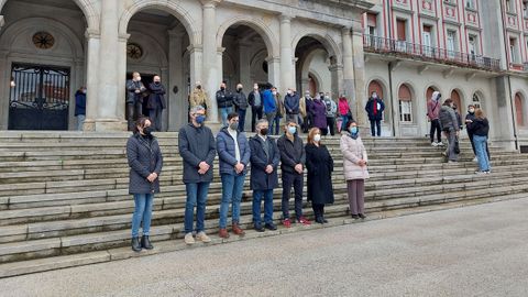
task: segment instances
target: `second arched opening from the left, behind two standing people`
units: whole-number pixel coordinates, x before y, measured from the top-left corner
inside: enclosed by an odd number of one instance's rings
[[[127,55],[127,79],[138,72],[148,89],[153,77],[161,77],[167,101],[162,113],[162,131],[177,131],[187,122],[191,91],[190,62],[186,53],[190,38],[186,26],[170,10],[155,7],[133,14],[127,32],[130,34],[127,53],[123,53]],[[146,100],[143,114],[148,116]]]

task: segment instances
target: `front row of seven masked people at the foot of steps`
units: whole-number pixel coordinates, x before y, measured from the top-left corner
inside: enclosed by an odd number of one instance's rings
[[[206,233],[205,218],[209,186],[213,179],[213,161],[218,155],[219,173],[222,184],[220,200],[219,237],[227,239],[228,213],[231,207],[231,232],[244,235],[240,223],[240,205],[248,169],[251,166],[250,188],[253,191],[253,228],[258,232],[276,230],[273,218],[274,189],[278,187],[278,167],[282,170],[282,223],[290,228],[292,223],[311,224],[304,215],[305,169],[307,172],[308,194],[315,221],[328,222],[324,206],[334,201],[332,173],[333,158],[323,144],[322,130],[315,127],[309,130],[305,145],[298,135],[299,124],[295,117],[288,118],[283,125],[284,133],[277,141],[270,136],[270,121],[260,119],[255,123],[255,135],[248,139],[240,131],[240,116],[230,112],[226,125],[215,138],[205,124],[206,109],[195,106],[189,111],[190,122],[179,130],[178,148],[183,158],[183,182],[186,186],[184,241],[210,242]],[[135,210],[132,219],[132,249],[152,249],[150,226],[152,205],[160,193],[160,175],[163,157],[156,138],[152,132],[153,123],[140,118],[134,125],[134,134],[127,143],[130,165],[130,194],[134,196]],[[366,150],[361,141],[359,128],[352,120],[346,121],[342,131],[340,147],[343,154],[344,176],[348,184],[350,212],[354,219],[364,219],[364,179],[369,178]],[[295,216],[289,213],[292,189],[295,196]],[[264,200],[264,218],[261,204]],[[195,216],[196,209],[196,216]],[[195,226],[196,222],[196,226]],[[139,229],[143,227],[140,238]]]

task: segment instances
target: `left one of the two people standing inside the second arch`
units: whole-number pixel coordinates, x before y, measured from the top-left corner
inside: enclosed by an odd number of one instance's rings
[[[134,120],[143,116],[143,97],[146,88],[141,82],[139,73],[132,74],[132,79],[127,81],[127,121],[129,131],[134,130]]]

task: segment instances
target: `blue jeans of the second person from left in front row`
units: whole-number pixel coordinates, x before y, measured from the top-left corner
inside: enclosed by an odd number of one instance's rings
[[[205,230],[204,220],[206,219],[206,202],[209,194],[210,183],[189,183],[185,184],[187,190],[187,201],[185,202],[185,233],[193,232],[196,207],[196,232]]]

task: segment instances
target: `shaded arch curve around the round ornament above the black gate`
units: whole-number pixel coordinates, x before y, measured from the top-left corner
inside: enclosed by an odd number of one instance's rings
[[[81,59],[84,57],[85,51],[79,36],[62,22],[45,18],[26,18],[11,23],[3,31],[2,38],[0,38],[0,48],[10,50],[14,41],[21,36],[21,32],[35,28],[35,23],[44,24],[41,29],[50,28],[64,34],[73,51],[74,58]],[[37,30],[35,29],[35,31]]]

